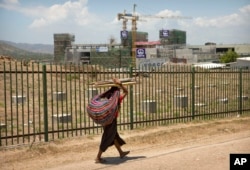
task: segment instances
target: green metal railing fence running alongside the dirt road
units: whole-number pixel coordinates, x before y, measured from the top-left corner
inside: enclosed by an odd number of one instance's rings
[[[120,130],[250,111],[250,70],[0,64],[0,146],[101,133],[86,106],[108,87],[90,84],[113,77],[133,77],[137,82],[127,86],[129,94],[118,117]]]

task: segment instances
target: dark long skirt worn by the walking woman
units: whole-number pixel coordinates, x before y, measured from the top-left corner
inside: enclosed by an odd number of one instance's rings
[[[116,118],[113,122],[105,127],[103,127],[102,140],[100,144],[100,150],[105,152],[109,146],[114,145],[114,140],[116,139],[120,146],[126,144],[125,141],[119,136],[117,132],[117,120]]]

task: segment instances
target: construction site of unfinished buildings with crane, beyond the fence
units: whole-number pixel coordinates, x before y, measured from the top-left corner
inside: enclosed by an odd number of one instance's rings
[[[148,32],[138,31],[137,22],[146,18],[191,19],[185,16],[138,16],[135,12],[117,14],[122,21],[120,43],[110,39],[107,44],[75,44],[75,35],[70,33],[54,34],[54,63],[92,64],[105,67],[161,67],[163,64],[181,63],[219,63],[219,57],[232,50],[248,62],[250,44],[216,44],[205,42],[204,45],[187,44],[187,33],[179,29],[159,29],[159,39],[148,40]],[[127,28],[131,22],[131,29]],[[242,64],[233,64],[242,66]],[[250,68],[249,62],[245,67]]]

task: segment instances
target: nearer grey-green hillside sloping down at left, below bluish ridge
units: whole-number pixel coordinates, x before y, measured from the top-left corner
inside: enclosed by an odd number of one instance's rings
[[[9,56],[17,60],[53,60],[53,54],[32,52],[10,45],[5,41],[0,41],[0,55]]]

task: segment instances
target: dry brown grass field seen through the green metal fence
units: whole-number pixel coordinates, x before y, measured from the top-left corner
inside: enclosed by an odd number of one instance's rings
[[[26,66],[20,62],[0,59],[0,121],[7,123],[4,135],[20,135],[39,133],[43,131],[44,99],[43,99],[43,65],[30,63]],[[129,72],[110,71],[101,66],[56,66],[47,65],[47,104],[49,116],[49,130],[63,130],[86,128],[95,126],[86,114],[86,105],[92,97],[89,84],[94,81],[107,80],[112,77],[127,78]],[[22,72],[22,73],[20,73]],[[249,72],[242,74],[243,95],[250,96]],[[194,85],[191,67],[185,65],[170,65],[162,69],[134,77],[137,84],[129,87],[129,95],[123,104],[120,122],[130,121],[130,100],[133,99],[134,121],[150,121],[153,119],[167,119],[181,116],[191,116],[192,95],[195,104],[205,104],[195,107],[195,114],[203,118],[208,113],[230,112],[238,109],[239,72],[237,70],[203,70],[196,69]],[[192,94],[192,87],[195,93]],[[98,88],[101,93],[107,88]],[[131,91],[132,90],[132,91]],[[64,92],[66,100],[55,100],[54,92]],[[89,93],[90,92],[90,93]],[[15,104],[12,96],[26,96],[26,102]],[[177,107],[175,96],[187,96],[187,107]],[[219,99],[227,99],[223,104]],[[157,114],[147,113],[142,101],[157,101]],[[243,108],[250,109],[250,100],[243,101]],[[60,123],[52,115],[69,113],[72,121]],[[225,115],[222,115],[225,116]],[[186,121],[190,118],[186,119]],[[167,122],[166,122],[167,123]],[[144,125],[144,124],[143,124]],[[141,126],[143,126],[141,125]],[[94,130],[92,131],[94,132]],[[5,134],[6,133],[6,134]],[[69,132],[67,132],[69,133]],[[86,131],[84,131],[86,133]],[[91,131],[87,132],[91,133]],[[55,137],[69,134],[58,133]],[[39,136],[43,137],[43,136]],[[23,138],[22,138],[23,139]],[[33,139],[24,139],[29,142]]]

